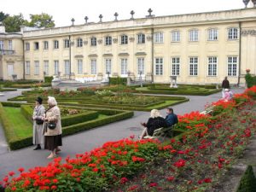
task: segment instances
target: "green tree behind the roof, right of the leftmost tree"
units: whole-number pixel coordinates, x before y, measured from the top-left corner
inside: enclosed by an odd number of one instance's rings
[[[40,15],[30,15],[29,26],[38,27],[38,28],[49,28],[55,26],[55,21],[52,20],[52,16],[42,13]]]

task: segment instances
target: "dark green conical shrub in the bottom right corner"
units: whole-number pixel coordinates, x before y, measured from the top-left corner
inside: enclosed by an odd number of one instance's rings
[[[256,192],[256,178],[253,174],[253,166],[247,166],[236,192]]]

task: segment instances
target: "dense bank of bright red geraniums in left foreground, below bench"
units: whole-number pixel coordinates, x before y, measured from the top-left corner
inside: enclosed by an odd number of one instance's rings
[[[108,142],[90,153],[77,154],[75,159],[67,157],[65,163],[56,158],[48,166],[29,172],[20,168],[18,177],[9,172],[3,182],[6,191],[102,191],[120,179],[125,183],[125,177],[143,169],[159,153],[158,146],[154,140]]]

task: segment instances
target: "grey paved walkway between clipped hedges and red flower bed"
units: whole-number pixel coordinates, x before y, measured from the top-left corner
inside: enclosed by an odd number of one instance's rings
[[[244,89],[236,88],[234,93],[241,93]],[[21,90],[5,92],[5,96],[0,97],[0,102],[6,101],[7,98],[20,95]],[[177,114],[189,113],[191,111],[203,111],[207,103],[216,102],[221,98],[221,92],[211,96],[187,96],[189,102],[184,102],[173,106]],[[163,116],[166,110],[160,111]],[[61,157],[75,154],[81,154],[90,151],[92,148],[100,147],[108,141],[116,141],[124,137],[136,135],[138,137],[143,131],[140,128],[140,122],[147,121],[149,112],[135,112],[131,119],[125,119],[116,123],[103,125],[95,129],[80,132],[73,136],[63,137],[63,146],[61,148]],[[46,157],[49,155],[47,150],[32,150],[33,147],[23,148],[20,150],[9,151],[3,136],[3,128],[0,125],[0,180],[10,171],[16,171],[19,167],[25,169],[34,166],[46,166],[50,160]]]

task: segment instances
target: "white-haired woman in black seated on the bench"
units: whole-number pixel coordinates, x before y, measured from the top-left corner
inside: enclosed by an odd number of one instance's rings
[[[150,118],[148,119],[147,124],[141,123],[145,127],[142,132],[141,139],[145,136],[153,136],[154,130],[160,127],[166,127],[165,119],[160,115],[159,110],[152,109],[150,113]]]

